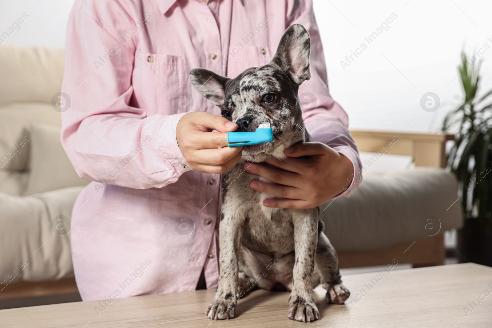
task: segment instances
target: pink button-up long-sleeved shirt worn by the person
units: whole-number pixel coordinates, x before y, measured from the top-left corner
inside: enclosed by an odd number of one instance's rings
[[[218,281],[220,175],[191,170],[176,141],[189,111],[220,115],[190,69],[234,78],[267,64],[284,30],[311,37],[299,89],[308,132],[361,171],[348,118],[331,98],[311,0],[76,0],[68,20],[62,144],[92,182],[72,212],[83,300],[194,290]],[[340,196],[360,183],[356,175]]]

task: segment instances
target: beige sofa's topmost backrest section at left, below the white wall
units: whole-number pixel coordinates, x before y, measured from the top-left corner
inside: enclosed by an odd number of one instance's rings
[[[0,106],[17,101],[51,103],[62,89],[64,51],[0,47]]]

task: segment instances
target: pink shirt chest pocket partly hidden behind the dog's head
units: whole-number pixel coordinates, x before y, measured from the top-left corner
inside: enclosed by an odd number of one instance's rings
[[[236,47],[229,50],[227,76],[235,78],[250,67],[265,66],[272,60],[276,48],[261,46]]]

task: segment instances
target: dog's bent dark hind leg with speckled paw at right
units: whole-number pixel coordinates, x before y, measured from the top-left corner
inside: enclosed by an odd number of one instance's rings
[[[320,283],[327,290],[326,301],[328,303],[343,304],[350,296],[350,292],[341,283],[338,256],[335,248],[322,232],[318,235],[315,266],[316,272],[320,275]]]

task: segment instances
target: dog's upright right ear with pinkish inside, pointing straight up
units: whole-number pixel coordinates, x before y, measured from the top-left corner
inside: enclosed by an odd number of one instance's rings
[[[283,33],[272,63],[280,66],[296,85],[300,85],[311,77],[310,51],[309,33],[304,26],[294,24]]]

